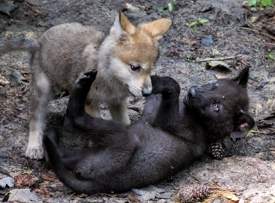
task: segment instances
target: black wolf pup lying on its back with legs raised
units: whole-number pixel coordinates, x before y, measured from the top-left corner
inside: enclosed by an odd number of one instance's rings
[[[86,194],[120,192],[161,180],[201,157],[210,142],[254,126],[247,110],[248,72],[247,67],[235,79],[191,87],[181,106],[178,83],[151,76],[154,95],[147,98],[143,118],[125,127],[85,112],[97,74],[90,70],[74,85],[64,128],[94,145],[88,150],[62,149],[58,132],[49,128],[44,136],[49,163],[65,185]]]

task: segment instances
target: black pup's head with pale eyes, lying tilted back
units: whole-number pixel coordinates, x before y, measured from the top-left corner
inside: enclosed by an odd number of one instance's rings
[[[213,140],[254,126],[255,121],[248,112],[248,76],[249,68],[245,67],[234,79],[219,79],[188,90],[184,104],[199,112]]]

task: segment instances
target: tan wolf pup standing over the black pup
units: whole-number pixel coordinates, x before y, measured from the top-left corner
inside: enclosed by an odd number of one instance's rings
[[[88,69],[98,71],[87,95],[85,111],[100,118],[107,104],[113,120],[129,124],[126,99],[151,94],[150,71],[160,55],[158,39],[172,25],[169,19],[133,26],[119,12],[107,37],[92,27],[66,23],[47,30],[37,41],[8,41],[3,52],[28,50],[34,73],[30,135],[25,155],[43,158],[42,138],[48,102],[54,92],[73,88]]]

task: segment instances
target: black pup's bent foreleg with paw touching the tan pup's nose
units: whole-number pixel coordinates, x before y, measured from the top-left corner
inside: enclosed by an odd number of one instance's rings
[[[162,101],[158,109],[153,126],[159,126],[164,130],[173,132],[178,121],[178,97],[180,86],[170,77],[151,76],[152,93],[162,94]]]

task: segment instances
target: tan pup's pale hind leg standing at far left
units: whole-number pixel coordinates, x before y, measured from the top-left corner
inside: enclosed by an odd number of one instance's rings
[[[45,74],[39,73],[34,79],[34,92],[32,97],[30,135],[25,156],[32,159],[43,158],[42,138],[46,128],[45,118],[48,102],[52,99],[54,91],[50,80]]]

